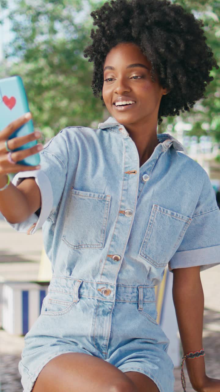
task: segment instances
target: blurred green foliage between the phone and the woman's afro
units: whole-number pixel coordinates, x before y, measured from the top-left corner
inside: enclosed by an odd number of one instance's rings
[[[35,128],[46,138],[66,126],[90,126],[103,117],[103,103],[90,86],[92,64],[83,57],[91,10],[89,1],[16,0],[9,13],[14,40],[6,57],[13,61],[2,75],[22,76]],[[80,15],[82,22],[77,22]]]

